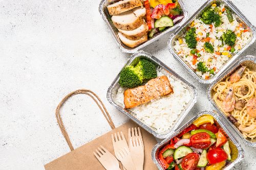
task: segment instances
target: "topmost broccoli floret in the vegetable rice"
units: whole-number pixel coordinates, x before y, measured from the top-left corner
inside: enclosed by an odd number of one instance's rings
[[[216,14],[211,8],[203,12],[201,20],[208,25],[215,22],[215,27],[221,25],[221,16]]]

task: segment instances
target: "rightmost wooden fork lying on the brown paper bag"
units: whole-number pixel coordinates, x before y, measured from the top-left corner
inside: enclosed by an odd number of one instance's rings
[[[141,139],[139,137],[132,137],[130,139],[130,152],[132,155],[133,163],[136,167],[136,170],[143,170],[144,163],[144,149],[142,146]]]

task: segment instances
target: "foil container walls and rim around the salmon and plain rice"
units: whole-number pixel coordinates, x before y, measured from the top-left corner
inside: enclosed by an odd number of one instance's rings
[[[128,116],[129,118],[131,118],[135,123],[137,123],[139,126],[141,126],[142,128],[144,128],[147,132],[153,134],[155,137],[157,138],[166,138],[169,136],[170,133],[172,133],[172,129],[175,129],[179,126],[179,124],[182,122],[182,120],[184,119],[184,117],[187,115],[187,113],[189,112],[189,110],[194,106],[194,104],[197,102],[197,90],[196,88],[190,84],[189,82],[187,82],[186,80],[184,80],[181,76],[179,76],[176,72],[174,72],[172,69],[170,69],[168,66],[166,66],[164,63],[162,63],[160,60],[158,60],[157,58],[155,58],[154,56],[152,56],[151,54],[145,53],[143,51],[139,51],[135,54],[133,54],[130,59],[126,62],[126,64],[124,65],[124,67],[126,65],[136,65],[138,60],[140,58],[146,58],[150,61],[152,61],[153,63],[156,64],[157,67],[161,67],[163,68],[162,71],[164,71],[164,75],[172,75],[174,76],[176,79],[181,80],[182,84],[189,90],[189,93],[191,94],[191,99],[188,102],[188,104],[185,106],[184,111],[178,116],[178,119],[176,119],[173,127],[170,127],[169,130],[162,132],[162,133],[158,133],[156,131],[156,129],[147,126],[142,120],[138,119],[136,114],[133,113],[132,111],[130,111],[129,109],[124,109],[123,107],[123,103],[119,103],[116,99],[116,94],[117,94],[117,90],[120,87],[118,81],[119,81],[119,76],[120,76],[120,72],[119,74],[116,76],[116,78],[114,79],[113,83],[111,84],[111,86],[108,89],[108,92],[106,94],[106,97],[108,99],[108,101],[115,106],[120,112],[122,112],[123,114],[125,114],[126,116]],[[121,69],[122,70],[122,69]],[[120,71],[121,71],[120,70]]]

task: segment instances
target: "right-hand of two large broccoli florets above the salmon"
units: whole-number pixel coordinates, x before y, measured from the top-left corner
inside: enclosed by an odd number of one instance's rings
[[[136,67],[140,67],[143,79],[153,79],[157,77],[157,70],[155,64],[148,61],[147,59],[140,59],[139,63],[135,66],[135,68]]]

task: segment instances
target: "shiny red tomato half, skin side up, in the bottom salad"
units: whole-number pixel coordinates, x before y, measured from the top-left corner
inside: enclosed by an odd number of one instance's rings
[[[215,148],[207,153],[206,158],[210,164],[214,164],[227,160],[227,154],[223,149]]]

